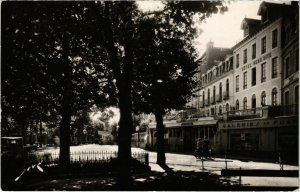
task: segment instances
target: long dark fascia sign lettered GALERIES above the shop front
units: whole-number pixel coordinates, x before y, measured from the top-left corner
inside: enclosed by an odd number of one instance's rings
[[[264,119],[239,122],[219,122],[219,129],[283,127],[298,126],[298,124],[298,118]]]

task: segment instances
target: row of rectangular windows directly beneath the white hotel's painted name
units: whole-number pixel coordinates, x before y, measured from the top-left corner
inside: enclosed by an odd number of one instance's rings
[[[254,86],[254,85],[256,85],[256,67],[251,69],[251,73],[252,73],[251,74],[252,75],[251,85]],[[272,79],[278,77],[278,58],[277,57],[274,57],[272,59],[271,73],[272,73],[272,75],[271,75]],[[247,78],[248,78],[247,71],[245,71],[243,73],[243,89],[247,89],[247,85],[248,85],[247,84]],[[266,82],[266,79],[267,79],[266,78],[266,63],[262,63],[261,64],[261,82],[262,83]],[[239,75],[237,75],[235,77],[235,82],[236,82],[236,86],[235,86],[236,90],[235,91],[239,92]]]

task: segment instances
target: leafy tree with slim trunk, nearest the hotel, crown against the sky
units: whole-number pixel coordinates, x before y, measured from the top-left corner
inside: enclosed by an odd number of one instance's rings
[[[155,115],[159,165],[166,161],[163,115],[182,108],[196,84],[195,16],[201,21],[218,8],[226,10],[217,1],[166,2],[162,11],[146,13],[139,23],[134,105]]]

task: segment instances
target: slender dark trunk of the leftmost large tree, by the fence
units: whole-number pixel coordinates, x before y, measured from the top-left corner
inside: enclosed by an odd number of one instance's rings
[[[72,81],[71,81],[71,67],[68,60],[69,38],[67,33],[63,36],[62,42],[62,62],[64,65],[64,85],[62,98],[62,119],[59,126],[60,131],[60,152],[59,165],[67,169],[70,165],[70,124],[71,124],[71,97],[72,97]]]

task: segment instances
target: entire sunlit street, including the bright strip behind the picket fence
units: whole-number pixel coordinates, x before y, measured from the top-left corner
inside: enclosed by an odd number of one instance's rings
[[[140,148],[131,148],[132,152],[148,152],[149,153],[149,166],[152,171],[164,172],[164,170],[156,164],[156,152],[145,151]],[[71,152],[79,151],[117,151],[116,145],[80,145],[71,146]],[[59,153],[59,149],[46,149],[40,153]],[[221,175],[221,169],[225,169],[224,158],[213,158],[209,161],[203,162],[204,170],[202,170],[202,161],[196,159],[193,155],[166,153],[166,163],[174,171],[191,171],[191,172],[210,172],[216,175]],[[277,163],[265,163],[257,161],[240,161],[234,159],[227,159],[228,169],[270,169],[279,170],[280,165]],[[284,170],[298,170],[298,166],[283,165]],[[232,182],[236,182],[238,177],[231,177]],[[242,177],[242,185],[250,186],[299,186],[298,178],[283,178],[283,177]]]

